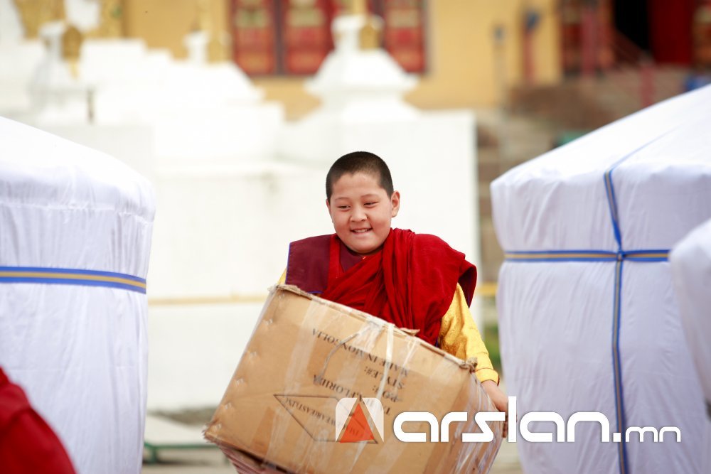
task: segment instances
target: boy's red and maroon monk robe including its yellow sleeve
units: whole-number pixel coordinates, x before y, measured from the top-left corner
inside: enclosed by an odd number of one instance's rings
[[[417,329],[420,338],[456,357],[476,357],[479,380],[498,383],[469,313],[476,267],[439,237],[393,229],[383,248],[367,257],[335,234],[309,237],[289,246],[282,281]]]

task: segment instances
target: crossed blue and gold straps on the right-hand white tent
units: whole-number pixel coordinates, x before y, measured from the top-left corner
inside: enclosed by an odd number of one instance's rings
[[[646,145],[645,145],[646,146]],[[614,279],[614,304],[612,310],[612,363],[614,369],[615,382],[615,408],[616,423],[620,433],[625,433],[627,429],[623,387],[622,387],[622,367],[619,356],[619,329],[621,318],[621,291],[622,291],[622,267],[626,260],[631,262],[667,262],[669,249],[639,249],[624,250],[622,248],[622,234],[619,227],[619,217],[617,213],[617,201],[615,198],[612,172],[639,149],[625,156],[617,163],[614,163],[604,174],[605,190],[607,202],[610,209],[610,217],[614,230],[617,252],[605,250],[544,250],[530,252],[505,252],[507,262],[615,262]],[[625,443],[618,443],[619,470],[621,474],[627,474],[627,453]]]

